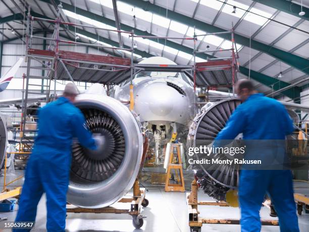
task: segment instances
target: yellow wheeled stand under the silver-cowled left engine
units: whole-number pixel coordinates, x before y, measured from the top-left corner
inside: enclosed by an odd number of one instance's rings
[[[149,201],[145,198],[145,194],[145,188],[140,188],[139,181],[136,179],[133,185],[133,196],[124,196],[117,202],[131,203],[130,209],[119,209],[113,207],[113,205],[98,209],[88,209],[67,204],[67,213],[127,213],[132,216],[133,226],[135,228],[140,228],[144,222],[143,218],[146,218],[146,216],[140,214],[141,206],[147,207],[149,204]]]

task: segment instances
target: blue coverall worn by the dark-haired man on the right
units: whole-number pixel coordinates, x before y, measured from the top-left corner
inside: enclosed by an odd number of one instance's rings
[[[253,94],[236,108],[215,143],[233,140],[239,133],[243,133],[244,140],[285,140],[293,130],[292,120],[281,103]],[[241,231],[261,230],[260,209],[266,193],[278,214],[280,231],[299,231],[290,170],[240,171]]]

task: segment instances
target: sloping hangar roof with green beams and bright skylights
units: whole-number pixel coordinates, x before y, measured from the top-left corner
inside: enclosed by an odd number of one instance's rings
[[[23,12],[28,5],[33,13],[54,19],[60,3],[65,21],[117,29],[112,0],[29,0],[26,4],[22,0],[0,0],[3,40],[22,39]],[[249,76],[257,81],[261,91],[270,93],[274,86],[280,89],[308,78],[309,1],[302,3],[304,16],[298,15],[300,0],[123,0],[117,1],[117,10],[121,29],[134,30],[138,35],[185,37],[193,35],[194,27],[196,34],[233,28],[239,52],[239,77]],[[38,32],[46,29],[53,28],[45,22],[36,24]],[[117,32],[86,27],[63,28],[61,35],[104,45],[118,46],[119,42]],[[127,34],[122,34],[121,40],[124,45],[131,45]],[[192,40],[135,38],[135,45],[135,59],[164,56],[181,65],[193,63]],[[231,38],[226,35],[200,36],[197,41],[199,50],[230,47]],[[108,49],[106,52],[120,55]],[[228,53],[205,53],[196,61],[204,62],[208,55],[226,57]],[[299,87],[306,83],[291,87],[289,97],[297,97],[295,93],[299,94]]]

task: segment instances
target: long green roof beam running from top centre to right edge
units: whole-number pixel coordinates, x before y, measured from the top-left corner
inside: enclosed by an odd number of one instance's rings
[[[271,1],[270,1],[271,2]],[[133,6],[139,7],[141,9],[144,10],[148,10],[152,13],[161,15],[161,16],[166,16],[166,11],[168,12],[167,14],[169,15],[169,17],[175,21],[181,22],[183,24],[189,25],[191,27],[194,27],[199,29],[199,30],[203,30],[203,31],[207,31],[208,33],[214,33],[214,32],[223,32],[226,31],[225,29],[219,28],[217,26],[199,21],[197,19],[192,19],[191,17],[185,16],[183,14],[171,11],[171,10],[167,10],[163,7],[151,4],[150,2],[145,2],[142,0],[126,0],[126,3],[131,4]],[[309,15],[309,13],[308,13]],[[229,34],[218,34],[218,36],[228,39],[231,39],[231,36]],[[250,46],[250,39],[235,33],[234,34],[234,38],[235,41],[239,44],[245,45],[246,47]],[[288,52],[285,52],[283,50],[274,48],[269,46],[268,44],[256,41],[256,40],[252,40],[251,39],[251,48],[267,53],[270,56],[273,56],[275,58],[277,58],[278,60],[281,60],[282,62],[287,63],[288,65],[302,71],[305,72],[307,74],[309,74],[309,61],[296,56],[294,54],[290,54]]]

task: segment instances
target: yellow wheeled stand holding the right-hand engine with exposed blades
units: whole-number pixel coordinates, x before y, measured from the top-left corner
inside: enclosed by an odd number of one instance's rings
[[[198,205],[216,205],[226,207],[229,205],[225,201],[197,201],[197,190],[198,185],[196,180],[193,180],[191,183],[191,192],[187,193],[190,232],[200,232],[203,224],[239,224],[239,219],[216,219],[199,217],[199,212],[197,210]],[[261,222],[262,225],[279,225],[278,220],[261,220]]]

